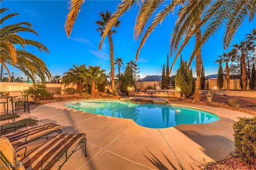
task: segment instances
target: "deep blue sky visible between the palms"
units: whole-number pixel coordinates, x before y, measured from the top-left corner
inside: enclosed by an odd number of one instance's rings
[[[40,52],[36,47],[27,46],[26,50],[34,53],[46,63],[48,69],[54,75],[63,75],[72,65],[86,64],[87,66],[100,66],[110,72],[110,57],[108,38],[105,38],[102,49],[98,50],[101,37],[100,32],[96,32],[98,26],[95,22],[100,20],[99,12],[111,13],[116,11],[116,7],[120,1],[118,0],[86,0],[82,5],[82,11],[78,14],[78,18],[72,29],[70,38],[67,38],[64,30],[64,23],[68,15],[67,0],[3,0],[1,8],[9,8],[6,14],[16,12],[19,15],[7,20],[3,25],[14,24],[18,22],[30,22],[33,29],[39,36],[32,33],[19,34],[24,38],[36,40],[43,43],[50,50],[50,54]],[[158,12],[159,10],[157,10]],[[121,57],[124,64],[135,59],[136,51],[140,41],[133,38],[134,23],[138,13],[138,6],[129,10],[120,20],[121,25],[116,29],[117,33],[112,36],[114,43],[114,58]],[[1,17],[2,17],[1,16]],[[166,20],[155,28],[148,40],[142,47],[137,61],[140,67],[141,78],[146,75],[162,75],[162,67],[165,63],[166,56],[170,51],[170,36],[175,23],[175,17],[170,14]],[[255,27],[255,20],[248,24],[246,20],[238,29],[231,44],[239,43],[244,39],[244,35],[250,33]],[[218,73],[218,64],[214,63],[221,55],[223,50],[222,37],[224,30],[219,30],[214,37],[202,47],[202,59],[204,62],[205,75]],[[182,52],[182,58],[187,60],[194,48],[194,38],[186,46]],[[227,50],[230,51],[230,48]],[[170,55],[169,55],[170,56]],[[176,73],[179,67],[179,61],[176,62],[172,75]],[[169,58],[169,64],[172,64],[172,57]],[[121,72],[124,71],[125,65],[122,66]],[[194,77],[196,76],[195,61],[192,63]],[[25,76],[21,71],[11,68],[10,72],[14,75]],[[6,71],[4,71],[6,73]],[[117,65],[115,73],[118,73]]]

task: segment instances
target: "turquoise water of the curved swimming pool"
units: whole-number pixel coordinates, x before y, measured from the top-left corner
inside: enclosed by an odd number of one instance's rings
[[[168,128],[180,124],[202,124],[218,121],[220,118],[206,111],[159,104],[134,104],[125,101],[81,101],[66,107],[104,115],[132,119],[148,128]]]

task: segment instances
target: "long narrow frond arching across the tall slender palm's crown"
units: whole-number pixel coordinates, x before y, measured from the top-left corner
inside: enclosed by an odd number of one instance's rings
[[[132,6],[134,5],[134,0],[122,0],[120,4],[118,4],[117,11],[114,12],[114,14],[111,16],[110,20],[108,21],[108,24],[106,25],[106,29],[104,30],[104,33],[102,35],[102,39],[100,41],[99,49],[101,49],[102,44],[104,42],[104,39],[108,32],[111,30],[111,28],[116,24],[118,19],[122,14],[127,12]],[[138,1],[137,1],[138,2]]]

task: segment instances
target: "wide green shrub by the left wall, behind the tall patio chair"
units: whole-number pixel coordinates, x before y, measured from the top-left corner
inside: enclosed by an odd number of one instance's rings
[[[24,95],[28,95],[32,100],[53,99],[53,94],[46,91],[44,84],[34,83],[28,89],[24,90]]]

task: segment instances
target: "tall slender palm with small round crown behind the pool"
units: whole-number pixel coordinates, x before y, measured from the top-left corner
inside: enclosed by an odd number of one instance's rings
[[[102,20],[96,21],[95,24],[99,26],[99,28],[97,29],[97,32],[100,32],[100,36],[102,36],[106,28],[106,25],[110,20],[111,14],[109,11],[106,11],[106,13],[100,12],[100,17]],[[114,27],[118,28],[120,26],[120,22],[121,21],[117,21],[114,24]],[[114,88],[115,87],[115,69],[114,69],[114,45],[112,41],[112,34],[116,34],[116,30],[109,30],[107,34],[108,34],[108,42],[110,46],[110,70],[111,70],[111,77],[112,77],[112,88]]]

